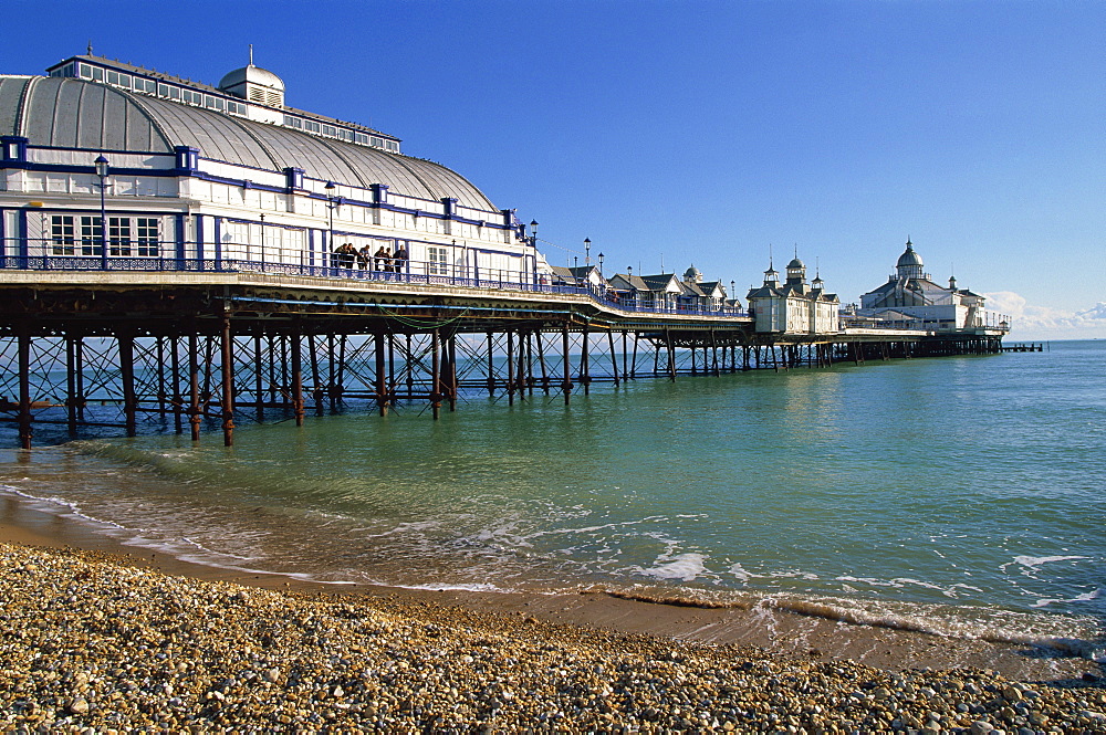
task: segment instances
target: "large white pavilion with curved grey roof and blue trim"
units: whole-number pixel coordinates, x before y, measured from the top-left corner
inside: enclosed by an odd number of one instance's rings
[[[345,267],[334,251],[348,243],[404,251],[405,272],[425,276],[549,270],[514,213],[463,176],[404,155],[396,136],[286,106],[252,60],[218,86],[93,55],[48,74],[0,77],[7,258]]]

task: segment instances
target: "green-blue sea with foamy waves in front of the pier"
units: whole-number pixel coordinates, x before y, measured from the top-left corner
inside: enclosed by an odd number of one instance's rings
[[[48,442],[30,508],[336,586],[608,590],[1103,655],[1106,340]]]

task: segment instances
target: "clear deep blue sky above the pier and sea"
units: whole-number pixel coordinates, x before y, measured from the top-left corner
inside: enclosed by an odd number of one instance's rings
[[[157,9],[156,11],[154,9]],[[1106,337],[1106,3],[9,2],[4,73],[83,53],[371,125],[541,222],[551,262],[843,302],[907,237],[1014,337]],[[560,248],[559,248],[560,246]],[[812,274],[813,275],[813,274]]]

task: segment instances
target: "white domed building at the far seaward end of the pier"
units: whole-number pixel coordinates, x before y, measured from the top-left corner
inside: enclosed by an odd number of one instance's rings
[[[959,288],[954,276],[945,287],[925,271],[921,255],[907,238],[906,250],[887,283],[860,296],[856,315],[902,328],[953,332],[984,326],[985,298]]]

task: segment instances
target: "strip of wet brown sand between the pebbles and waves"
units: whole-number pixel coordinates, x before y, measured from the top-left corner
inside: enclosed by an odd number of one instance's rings
[[[641,634],[658,640],[754,647],[783,661],[852,661],[883,671],[982,669],[1019,681],[1078,681],[1098,676],[1094,661],[1050,648],[952,639],[894,627],[852,623],[801,612],[753,606],[688,607],[627,599],[603,590],[574,595],[430,590],[369,585],[335,585],[280,574],[247,574],[184,561],[128,547],[64,517],[0,500],[0,543],[24,547],[81,549],[115,563],[207,582],[231,582],[332,598],[399,600],[439,608],[462,607],[479,615],[533,619],[581,630]]]

